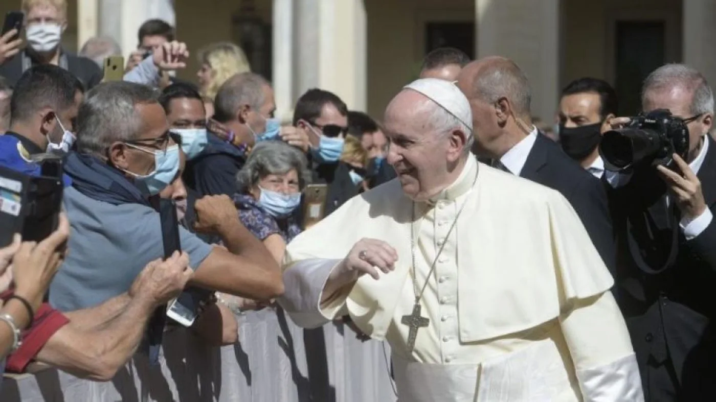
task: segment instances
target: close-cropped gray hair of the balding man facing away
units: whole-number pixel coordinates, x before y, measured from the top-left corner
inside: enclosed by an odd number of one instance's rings
[[[505,97],[513,105],[516,114],[530,116],[532,89],[522,69],[509,59],[498,59],[485,65],[475,79],[475,93],[488,103]]]

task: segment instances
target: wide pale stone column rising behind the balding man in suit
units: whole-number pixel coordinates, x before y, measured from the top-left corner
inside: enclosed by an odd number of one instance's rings
[[[559,0],[475,0],[478,58],[513,59],[532,87],[532,115],[551,122],[559,94]]]

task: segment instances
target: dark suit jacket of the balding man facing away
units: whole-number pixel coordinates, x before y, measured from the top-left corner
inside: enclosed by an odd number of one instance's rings
[[[537,134],[520,176],[557,190],[569,200],[606,268],[614,276],[614,231],[601,181],[565,155],[558,144],[543,134]]]

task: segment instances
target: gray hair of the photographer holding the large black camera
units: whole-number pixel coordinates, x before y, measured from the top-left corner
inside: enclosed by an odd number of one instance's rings
[[[690,112],[693,115],[714,112],[714,93],[706,78],[695,68],[686,64],[664,64],[644,80],[642,105],[646,104],[647,92],[682,87],[692,94]],[[686,117],[686,116],[684,116]]]

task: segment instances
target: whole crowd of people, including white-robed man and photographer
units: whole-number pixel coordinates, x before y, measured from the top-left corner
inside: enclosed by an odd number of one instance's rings
[[[633,119],[601,79],[564,87],[553,129],[515,62],[440,48],[381,122],[324,89],[281,122],[235,44],[196,52],[193,84],[175,77],[193,49],[150,20],[110,81],[115,41],[59,46],[64,0],[22,11],[24,39],[0,37],[0,167],[61,160],[64,190],[52,235],[0,248],[5,371],[109,381],[155,358],[167,303],[201,289],[190,330],[208,345],[238,342],[255,310],[343,323],[390,344],[405,401],[716,391],[714,100],[695,69],[642,88],[645,113],[686,127],[685,152],[617,169],[600,144]],[[178,218],[169,258],[160,200]]]

